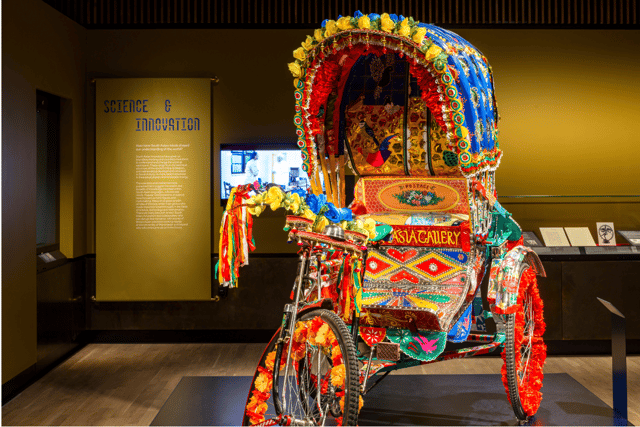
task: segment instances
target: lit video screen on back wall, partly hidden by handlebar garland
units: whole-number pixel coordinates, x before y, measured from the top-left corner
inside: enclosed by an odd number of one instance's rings
[[[307,190],[309,178],[302,170],[302,156],[297,148],[221,147],[220,192],[228,199],[231,189],[255,181],[277,184],[285,192],[295,188]]]

